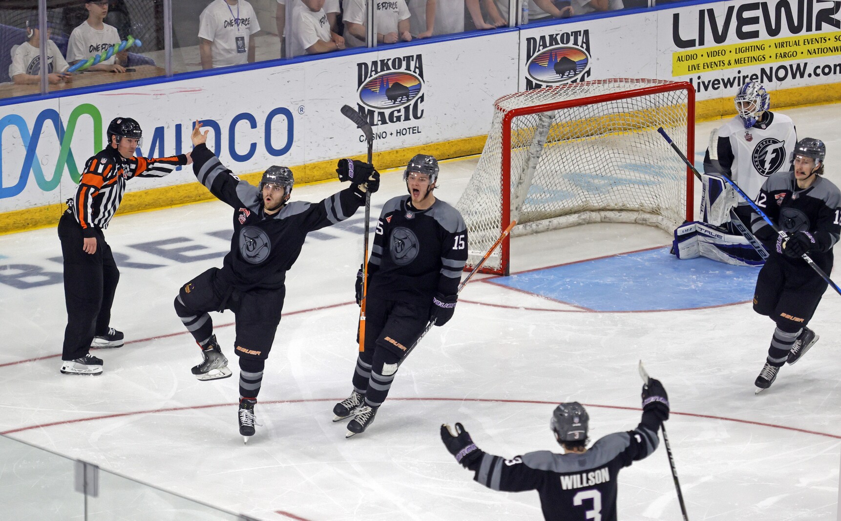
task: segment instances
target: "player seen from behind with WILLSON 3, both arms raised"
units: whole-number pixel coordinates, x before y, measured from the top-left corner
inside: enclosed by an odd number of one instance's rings
[[[669,396],[659,380],[643,385],[643,421],[587,449],[590,417],[578,401],[555,407],[550,427],[563,454],[548,450],[505,460],[480,450],[461,423],[441,426],[441,439],[473,480],[498,491],[537,490],[547,521],[616,521],[617,475],[657,449],[660,424],[669,419]]]

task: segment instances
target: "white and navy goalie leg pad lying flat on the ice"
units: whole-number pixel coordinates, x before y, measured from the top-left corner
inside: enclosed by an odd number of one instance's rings
[[[706,257],[736,266],[761,266],[764,261],[741,235],[731,235],[703,222],[691,221],[674,230],[677,258]]]

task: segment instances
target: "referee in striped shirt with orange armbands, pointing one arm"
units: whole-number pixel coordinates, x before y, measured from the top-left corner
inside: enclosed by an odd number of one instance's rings
[[[108,125],[108,146],[85,163],[76,195],[58,223],[64,258],[64,298],[67,327],[61,352],[66,375],[101,375],[103,361],[90,348],[119,348],[123,333],[110,327],[111,304],[119,269],[103,230],[119,208],[130,178],[160,178],[189,154],[149,159],[135,157],[143,133],[137,121],[115,118]]]

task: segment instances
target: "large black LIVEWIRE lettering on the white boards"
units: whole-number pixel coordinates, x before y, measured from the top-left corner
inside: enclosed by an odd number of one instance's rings
[[[672,15],[672,40],[678,49],[703,45],[719,45],[733,35],[738,40],[755,40],[788,32],[791,35],[824,29],[824,24],[841,29],[835,15],[841,11],[838,2],[824,0],[777,0],[776,2],[742,3],[738,7],[705,8],[697,11],[681,9]],[[681,14],[683,22],[681,23]],[[763,29],[761,32],[759,29]]]

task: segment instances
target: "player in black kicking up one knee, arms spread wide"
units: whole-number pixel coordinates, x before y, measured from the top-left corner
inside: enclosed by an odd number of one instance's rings
[[[241,181],[205,145],[208,130],[193,129],[193,173],[218,199],[234,209],[234,235],[222,268],[210,268],[184,284],[175,310],[201,348],[203,361],[193,367],[198,380],[230,376],[208,311],[231,310],[236,316],[235,354],[240,357],[240,433],[248,441],[255,433],[254,406],[263,367],[272,349],[283,310],[286,272],[301,253],[309,231],[331,226],[365,204],[365,193],[376,192],[379,173],[357,162],[351,187],[320,203],[288,202],[294,178],[287,167],[269,167],[260,187]],[[347,176],[347,161],[342,159]],[[364,168],[362,168],[364,167]],[[341,173],[341,172],[340,172]]]

